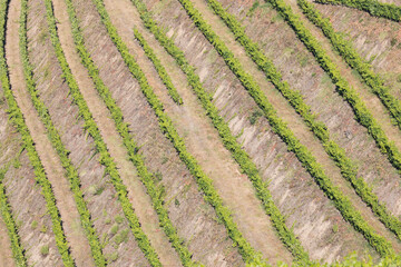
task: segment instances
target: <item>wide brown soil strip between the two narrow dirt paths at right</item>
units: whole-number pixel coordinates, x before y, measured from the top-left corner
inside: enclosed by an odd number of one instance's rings
[[[379,199],[387,204],[392,214],[400,215],[399,175],[376,148],[365,128],[353,119],[349,105],[335,93],[329,77],[286,22],[277,19],[280,17],[276,12],[266,4],[256,9],[253,16],[246,16],[252,2],[222,2],[225,7],[229,3],[228,12],[243,21],[246,33],[273,59],[284,80],[303,95],[312,111],[325,122],[332,138],[359,167],[359,176],[373,186]]]

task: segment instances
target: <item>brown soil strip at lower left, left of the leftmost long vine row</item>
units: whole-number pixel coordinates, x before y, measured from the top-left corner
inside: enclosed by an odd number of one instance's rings
[[[2,91],[0,95],[2,96]],[[45,198],[40,194],[40,187],[35,185],[35,175],[27,152],[20,154],[20,136],[8,122],[7,108],[4,103],[0,105],[0,166],[2,168],[10,166],[3,185],[11,212],[19,228],[21,245],[26,249],[29,265],[61,266],[61,257],[51,231],[51,219],[47,215]],[[1,233],[7,235],[7,229],[4,228],[4,231],[1,229]],[[40,248],[43,246],[49,247],[47,256],[40,254]]]

